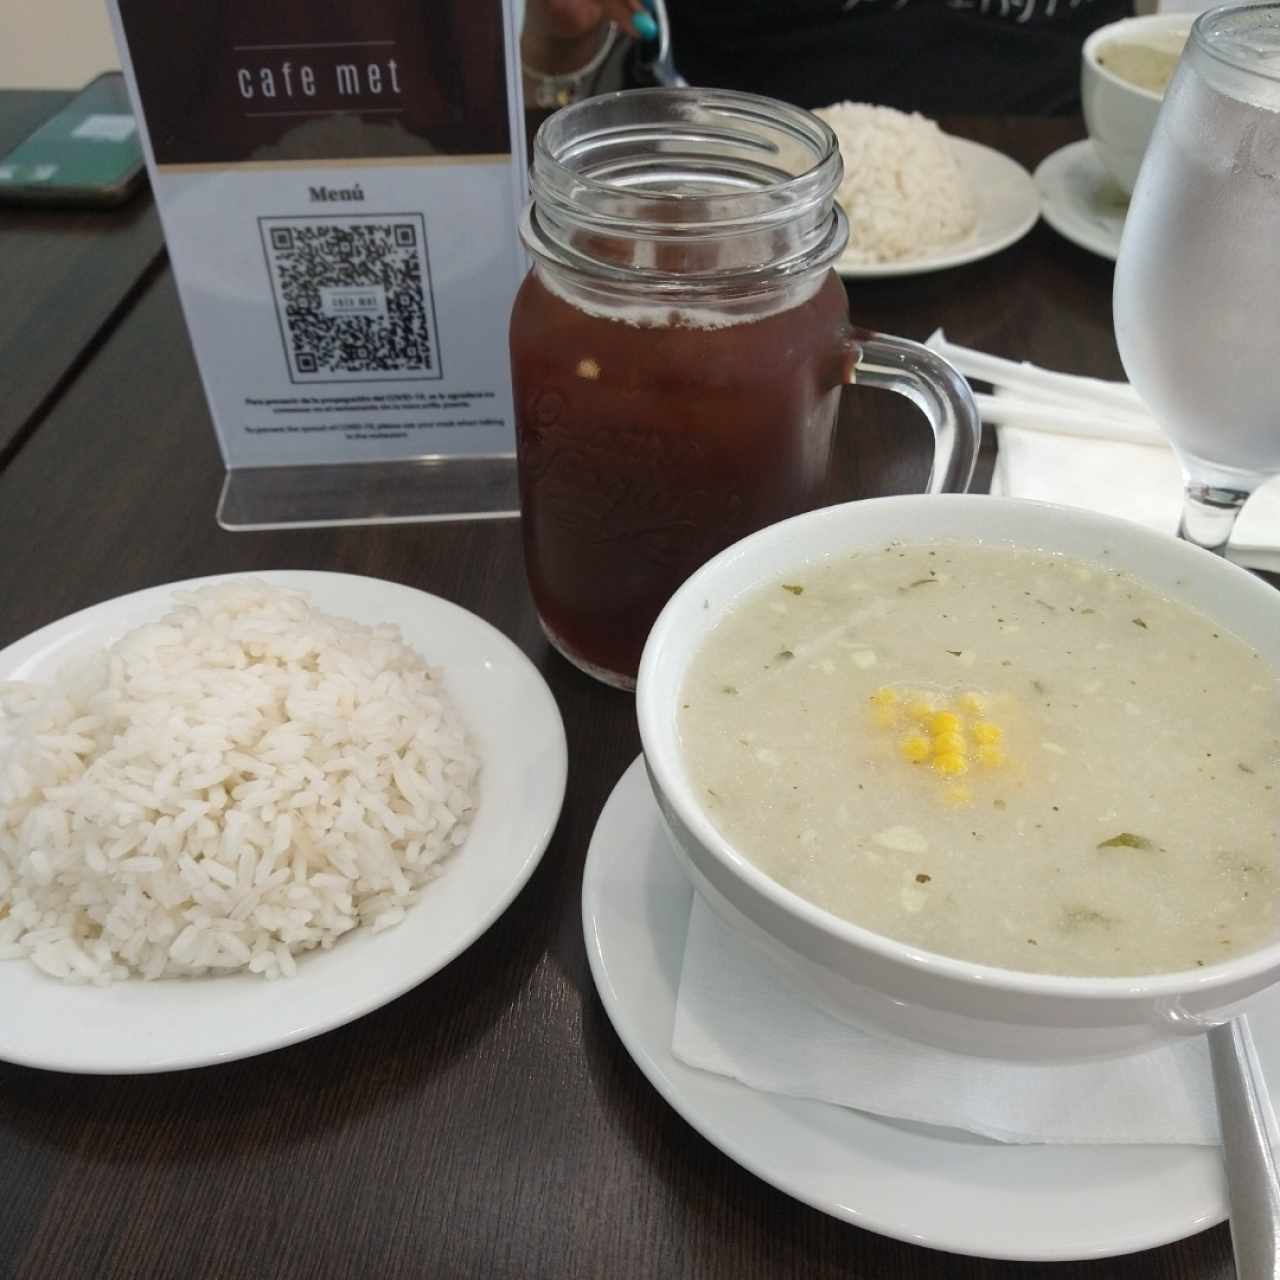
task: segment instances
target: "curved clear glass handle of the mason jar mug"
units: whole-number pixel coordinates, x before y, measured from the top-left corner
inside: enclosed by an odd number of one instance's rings
[[[865,330],[854,340],[858,358],[846,380],[905,396],[933,428],[933,468],[925,493],[966,493],[982,444],[982,419],[969,384],[918,342]]]

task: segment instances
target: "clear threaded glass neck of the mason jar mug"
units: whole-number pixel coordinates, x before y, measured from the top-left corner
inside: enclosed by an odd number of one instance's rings
[[[842,173],[835,132],[803,108],[735,90],[622,90],[539,128],[521,238],[557,270],[755,292],[840,256]],[[663,269],[682,252],[707,266]]]

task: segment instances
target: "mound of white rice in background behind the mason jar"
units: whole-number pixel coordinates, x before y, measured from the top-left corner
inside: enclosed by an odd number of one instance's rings
[[[837,102],[814,114],[835,131],[845,161],[836,195],[849,218],[842,262],[923,257],[978,225],[978,201],[933,120],[865,102]]]

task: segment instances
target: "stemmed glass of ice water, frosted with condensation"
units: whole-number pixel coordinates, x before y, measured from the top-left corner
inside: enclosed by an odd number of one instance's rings
[[[1185,476],[1180,536],[1221,553],[1280,474],[1280,4],[1203,13],[1147,147],[1115,276],[1125,371]]]

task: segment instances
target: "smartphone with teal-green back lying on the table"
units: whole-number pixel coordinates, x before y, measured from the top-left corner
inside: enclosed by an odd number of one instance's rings
[[[145,177],[124,76],[104,72],[0,155],[0,204],[105,209],[124,204]]]

